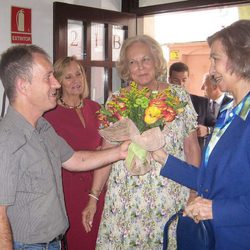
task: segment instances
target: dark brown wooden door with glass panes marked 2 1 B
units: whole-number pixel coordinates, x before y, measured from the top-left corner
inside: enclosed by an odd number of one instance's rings
[[[76,56],[85,68],[90,98],[105,103],[123,86],[115,61],[124,39],[136,34],[136,16],[60,2],[53,8],[53,60]]]

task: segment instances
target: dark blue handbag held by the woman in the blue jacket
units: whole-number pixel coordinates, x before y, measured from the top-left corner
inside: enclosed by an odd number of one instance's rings
[[[214,250],[215,240],[212,225],[209,220],[195,223],[191,218],[184,217],[181,209],[174,214],[164,227],[163,250],[168,247],[168,229],[170,224],[178,219],[176,229],[177,250]]]

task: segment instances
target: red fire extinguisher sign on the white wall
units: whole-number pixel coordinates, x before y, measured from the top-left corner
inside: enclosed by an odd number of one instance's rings
[[[31,9],[11,7],[11,42],[31,44]]]

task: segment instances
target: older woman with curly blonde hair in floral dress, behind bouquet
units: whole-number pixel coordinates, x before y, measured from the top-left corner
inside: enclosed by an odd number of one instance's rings
[[[138,88],[147,87],[159,92],[170,86],[181,101],[188,103],[184,112],[164,127],[165,149],[180,159],[199,165],[197,115],[188,93],[182,87],[157,81],[165,66],[161,47],[146,35],[127,39],[117,63],[125,81],[134,81]],[[153,159],[151,167],[150,172],[141,176],[130,175],[124,161],[114,163],[112,168],[108,166],[98,170],[92,185],[94,195],[98,196],[108,182],[96,249],[162,249],[164,225],[186,204],[190,190],[161,177],[161,165]],[[90,197],[91,205],[83,211],[83,224],[89,231],[95,211],[93,199]],[[173,225],[169,234],[171,250],[176,249],[175,230]]]

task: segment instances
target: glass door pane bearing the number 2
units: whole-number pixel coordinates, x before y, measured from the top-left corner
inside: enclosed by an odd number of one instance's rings
[[[68,20],[68,56],[83,59],[83,24],[81,21]]]

